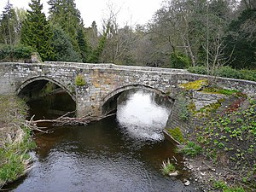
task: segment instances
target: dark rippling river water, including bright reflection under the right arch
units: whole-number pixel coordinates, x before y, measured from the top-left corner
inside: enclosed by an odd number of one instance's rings
[[[37,134],[32,170],[8,188],[24,192],[198,191],[192,184],[183,184],[189,173],[183,170],[182,156],[162,135],[170,110],[156,104],[155,98],[143,90],[125,92],[112,117]],[[181,174],[165,177],[160,165],[173,156]]]

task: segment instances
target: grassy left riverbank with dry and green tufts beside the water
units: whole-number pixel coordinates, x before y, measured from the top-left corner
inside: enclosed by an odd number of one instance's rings
[[[0,189],[26,174],[35,148],[26,127],[26,104],[17,96],[0,96]]]

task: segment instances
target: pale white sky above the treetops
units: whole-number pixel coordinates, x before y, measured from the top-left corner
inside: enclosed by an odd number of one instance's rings
[[[47,15],[49,6],[48,0],[41,0],[44,4],[44,13]],[[91,26],[95,20],[97,26],[102,26],[103,18],[108,18],[109,7],[113,12],[118,12],[116,18],[119,26],[136,26],[137,24],[146,24],[152,19],[155,11],[160,9],[163,0],[75,0],[77,9],[79,9],[84,20],[84,26]],[[2,14],[8,0],[0,0],[0,13]],[[28,3],[31,0],[9,0],[16,8],[28,9]]]

